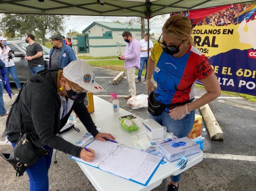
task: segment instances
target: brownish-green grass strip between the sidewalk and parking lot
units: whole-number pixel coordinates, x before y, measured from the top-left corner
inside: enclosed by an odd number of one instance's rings
[[[107,68],[116,71],[124,71],[124,61],[122,60],[99,60],[99,61],[88,61],[88,64],[96,67]],[[142,76],[145,76],[146,70],[142,71]],[[135,74],[138,74],[136,70]]]

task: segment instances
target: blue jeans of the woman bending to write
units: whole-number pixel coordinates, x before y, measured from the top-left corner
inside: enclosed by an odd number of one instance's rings
[[[15,143],[12,146],[15,147]],[[34,166],[28,167],[26,172],[29,177],[29,190],[30,191],[48,191],[49,190],[49,179],[48,170],[51,166],[53,148],[43,146],[45,149],[50,150],[51,155],[47,154],[41,158]]]

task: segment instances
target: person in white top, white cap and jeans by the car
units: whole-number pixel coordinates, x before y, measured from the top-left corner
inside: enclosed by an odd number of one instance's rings
[[[9,73],[11,74],[13,80],[15,81],[15,84],[18,88],[18,90],[21,89],[21,84],[19,81],[19,78],[16,73],[15,64],[13,62],[14,54],[10,52],[11,48],[7,46],[7,38],[4,38],[3,36],[0,36],[0,59],[5,63],[5,71],[6,71],[6,77],[9,83]],[[11,91],[11,95],[14,95],[14,93]]]

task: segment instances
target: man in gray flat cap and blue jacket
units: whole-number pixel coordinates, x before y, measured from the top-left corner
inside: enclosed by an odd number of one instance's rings
[[[50,51],[49,68],[64,68],[71,61],[77,60],[75,52],[70,46],[63,44],[63,37],[54,34],[50,37],[53,48]]]

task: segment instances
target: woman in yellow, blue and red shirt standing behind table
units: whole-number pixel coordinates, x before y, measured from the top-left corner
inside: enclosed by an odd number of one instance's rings
[[[177,137],[192,130],[195,109],[220,96],[219,82],[207,60],[193,45],[190,20],[171,16],[164,24],[163,39],[152,48],[148,61],[146,89],[149,95],[148,118],[155,119]],[[157,87],[151,81],[153,75]],[[194,101],[195,81],[207,91]],[[169,191],[178,191],[181,174],[171,176]]]

